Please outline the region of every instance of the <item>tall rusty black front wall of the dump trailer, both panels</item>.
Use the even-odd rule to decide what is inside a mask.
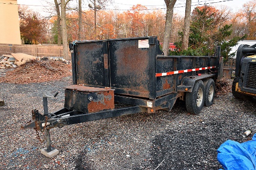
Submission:
[[[73,83],[155,99],[157,44],[156,37],[77,42]]]

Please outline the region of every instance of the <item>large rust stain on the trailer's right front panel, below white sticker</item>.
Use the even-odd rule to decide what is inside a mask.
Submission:
[[[137,45],[121,45],[115,51],[116,76],[126,77],[127,83],[120,82],[118,88],[148,91],[145,82],[149,76],[149,51],[138,49]]]

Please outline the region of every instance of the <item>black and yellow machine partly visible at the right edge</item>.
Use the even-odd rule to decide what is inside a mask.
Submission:
[[[237,49],[232,93],[238,99],[256,97],[256,44]]]

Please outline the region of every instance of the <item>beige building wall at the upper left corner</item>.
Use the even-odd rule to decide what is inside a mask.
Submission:
[[[21,44],[17,0],[0,0],[0,43]]]

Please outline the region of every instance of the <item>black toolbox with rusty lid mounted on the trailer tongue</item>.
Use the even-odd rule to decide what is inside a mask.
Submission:
[[[65,87],[64,107],[84,113],[114,109],[114,90],[71,85]]]

